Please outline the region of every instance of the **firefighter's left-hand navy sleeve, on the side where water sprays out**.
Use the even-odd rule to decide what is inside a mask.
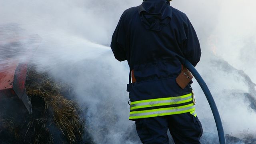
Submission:
[[[126,32],[123,24],[123,15],[122,15],[114,31],[111,45],[110,45],[115,58],[120,62],[127,59],[125,46],[126,46]]]

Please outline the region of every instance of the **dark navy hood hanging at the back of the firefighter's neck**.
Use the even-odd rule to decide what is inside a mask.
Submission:
[[[139,6],[140,20],[148,30],[160,31],[172,18],[172,9],[167,0],[144,0]]]

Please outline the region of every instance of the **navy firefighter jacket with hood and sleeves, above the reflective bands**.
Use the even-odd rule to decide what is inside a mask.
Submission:
[[[186,14],[167,0],[144,0],[124,11],[112,36],[111,48],[119,61],[134,70],[130,100],[181,96],[191,92],[176,84],[184,60],[194,66],[201,56],[196,32]]]

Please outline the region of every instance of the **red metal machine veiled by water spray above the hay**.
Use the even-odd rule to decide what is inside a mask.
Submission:
[[[42,39],[37,34],[27,36],[23,32],[15,24],[0,27],[0,114],[9,112],[3,108],[23,107],[22,102],[32,114],[26,95],[26,72],[28,60]]]

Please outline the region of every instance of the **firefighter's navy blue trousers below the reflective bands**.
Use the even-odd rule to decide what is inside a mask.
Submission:
[[[175,144],[200,144],[203,133],[201,122],[189,112],[141,118],[137,119],[135,124],[143,144],[169,144],[168,128]]]

